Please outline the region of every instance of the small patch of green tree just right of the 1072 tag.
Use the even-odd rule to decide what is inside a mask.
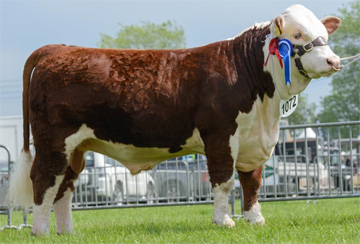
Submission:
[[[299,94],[299,104],[296,110],[288,117],[289,125],[310,124],[315,122],[314,103],[308,103],[307,95]]]

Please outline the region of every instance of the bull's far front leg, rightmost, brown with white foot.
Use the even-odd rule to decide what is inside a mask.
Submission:
[[[257,192],[261,186],[262,166],[250,172],[238,170],[239,180],[244,194],[244,217],[252,224],[263,225],[265,218],[261,214],[261,206],[258,202]]]

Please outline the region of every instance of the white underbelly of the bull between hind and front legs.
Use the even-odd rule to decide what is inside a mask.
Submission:
[[[195,129],[193,135],[186,140],[186,143],[182,145],[183,150],[177,153],[170,153],[169,148],[135,147],[134,145],[100,140],[95,136],[91,128],[83,124],[75,134],[65,139],[65,153],[67,158],[69,159],[76,147],[86,140],[90,141],[87,143],[87,150],[104,154],[119,161],[128,168],[132,174],[137,174],[141,170],[149,170],[160,162],[173,157],[191,153],[204,154],[204,143],[197,129]]]

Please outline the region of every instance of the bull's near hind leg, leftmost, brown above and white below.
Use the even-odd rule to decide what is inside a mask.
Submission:
[[[36,146],[35,146],[36,147]],[[49,234],[50,211],[61,182],[64,179],[65,155],[36,148],[36,156],[30,177],[34,189],[34,235]]]

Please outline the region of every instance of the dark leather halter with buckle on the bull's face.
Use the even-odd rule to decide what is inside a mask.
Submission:
[[[302,66],[300,57],[301,57],[302,55],[304,55],[305,53],[310,52],[311,50],[313,50],[314,47],[317,47],[317,46],[326,46],[326,45],[328,45],[328,44],[326,43],[325,38],[323,38],[323,37],[321,37],[321,36],[319,36],[318,38],[316,38],[316,39],[315,39],[314,41],[312,41],[312,42],[306,43],[305,45],[294,45],[294,44],[293,44],[293,49],[297,49],[297,51],[296,51],[296,52],[294,51],[291,56],[292,56],[292,57],[295,56],[295,59],[294,59],[295,65],[296,65],[296,67],[298,68],[299,73],[300,73],[302,76],[304,76],[304,77],[306,77],[306,78],[308,78],[308,79],[311,79],[311,78],[308,76],[307,72],[305,71],[304,67]]]

